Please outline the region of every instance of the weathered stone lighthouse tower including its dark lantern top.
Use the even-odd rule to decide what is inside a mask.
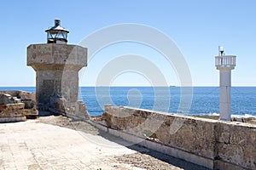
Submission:
[[[67,44],[67,31],[61,20],[46,30],[47,43],[27,47],[27,65],[37,72],[39,115],[54,112],[67,116],[87,114],[78,101],[79,70],[87,65],[87,48]]]

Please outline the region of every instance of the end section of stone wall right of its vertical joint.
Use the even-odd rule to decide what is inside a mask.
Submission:
[[[256,126],[247,123],[218,123],[218,158],[241,167],[256,169]],[[224,163],[219,161],[219,166]],[[224,168],[223,168],[224,169]]]

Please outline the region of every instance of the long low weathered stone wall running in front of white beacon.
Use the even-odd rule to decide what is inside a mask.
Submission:
[[[111,129],[160,144],[152,149],[204,167],[256,169],[255,125],[112,105],[105,106],[102,118]]]

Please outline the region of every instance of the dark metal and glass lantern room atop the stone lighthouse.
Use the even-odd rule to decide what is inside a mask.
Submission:
[[[67,43],[67,31],[61,27],[61,20],[55,20],[55,26],[45,30],[47,32],[47,43]]]

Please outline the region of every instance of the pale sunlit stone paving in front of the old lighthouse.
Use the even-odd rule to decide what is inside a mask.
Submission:
[[[103,145],[90,142],[100,140]],[[113,145],[114,147],[109,147]],[[140,169],[118,163],[113,156],[134,150],[92,134],[37,120],[0,123],[0,169]]]

